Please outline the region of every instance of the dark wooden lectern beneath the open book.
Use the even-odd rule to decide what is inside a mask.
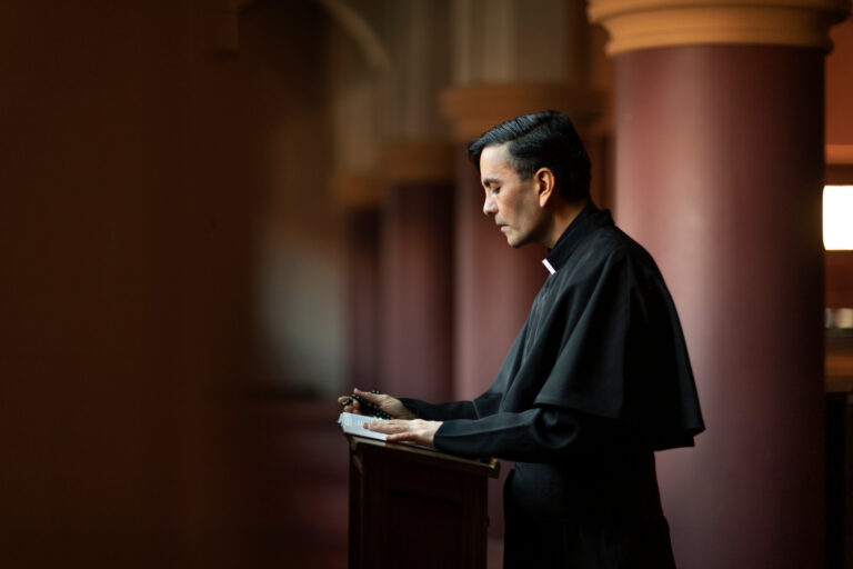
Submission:
[[[350,569],[485,569],[486,482],[496,460],[347,439]]]

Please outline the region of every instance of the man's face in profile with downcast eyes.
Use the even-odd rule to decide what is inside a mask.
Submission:
[[[545,212],[539,203],[535,177],[519,177],[506,147],[486,147],[480,154],[480,181],[485,190],[483,213],[494,217],[506,242],[518,248],[541,240]]]

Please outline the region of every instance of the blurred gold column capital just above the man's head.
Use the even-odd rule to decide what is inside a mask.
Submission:
[[[605,107],[601,93],[562,83],[451,88],[441,93],[439,101],[441,113],[452,122],[453,137],[460,141],[520,114],[545,109],[565,112],[581,128]]]

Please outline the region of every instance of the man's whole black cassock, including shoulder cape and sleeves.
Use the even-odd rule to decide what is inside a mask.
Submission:
[[[704,429],[681,325],[649,253],[588,204],[492,387],[403,403],[438,449],[514,460],[505,567],[674,567],[654,450]]]

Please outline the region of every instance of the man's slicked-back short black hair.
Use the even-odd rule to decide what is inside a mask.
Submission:
[[[468,156],[480,171],[483,149],[508,142],[511,164],[522,180],[530,179],[540,168],[549,168],[563,198],[589,199],[590,157],[569,117],[559,111],[542,111],[501,122],[471,142]]]

